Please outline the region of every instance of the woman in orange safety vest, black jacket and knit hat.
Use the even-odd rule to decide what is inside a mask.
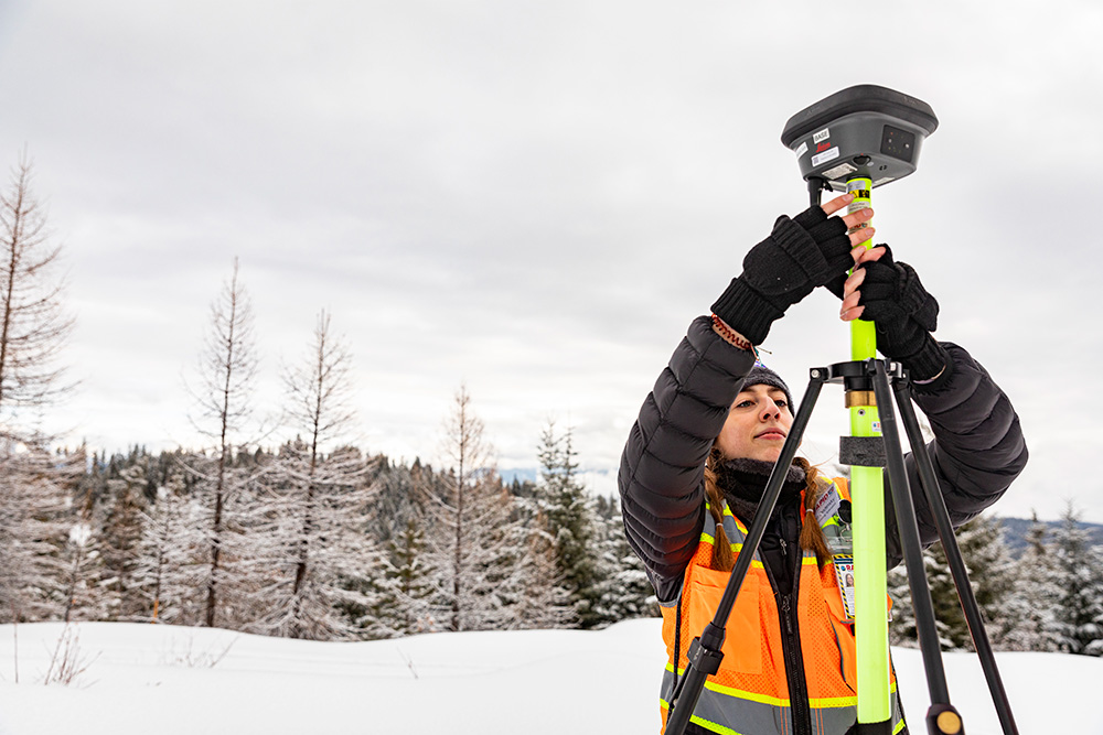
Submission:
[[[878,349],[908,368],[914,401],[930,419],[929,450],[955,526],[995,502],[1026,464],[1007,397],[963,348],[931,336],[938,303],[914,270],[893,262],[887,247],[863,245],[874,234],[860,228],[872,210],[832,216],[850,199],[777,220],[711,317],[690,324],[625,445],[624,526],[655,587],[670,657],[664,728],[675,671],[711,620],[793,422],[788,386],[754,349],[789,306],[826,285],[843,299],[843,320],[876,324]],[[906,458],[920,534],[930,543],[938,531],[913,457]],[[831,563],[832,544],[845,536],[848,519],[838,509],[847,497],[845,480],[793,462],[729,618],[721,668],[687,732],[843,735],[854,724],[854,627],[844,604],[853,591]],[[902,554],[890,498],[885,521],[892,566]],[[892,732],[906,732],[893,700]]]

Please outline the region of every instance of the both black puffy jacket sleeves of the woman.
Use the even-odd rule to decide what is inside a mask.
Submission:
[[[1019,420],[1007,396],[963,348],[943,343],[952,369],[913,398],[934,431],[928,445],[954,526],[999,499],[1027,462]],[[754,356],[725,342],[708,317],[689,325],[640,410],[621,456],[618,484],[629,542],[661,601],[673,599],[705,522],[705,458]],[[906,457],[923,543],[938,529],[923,499],[914,458]],[[900,562],[891,499],[886,502],[889,564]]]

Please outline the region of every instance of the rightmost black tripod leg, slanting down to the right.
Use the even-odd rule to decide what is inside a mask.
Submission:
[[[927,496],[931,516],[939,528],[939,538],[942,540],[942,548],[946,552],[946,561],[954,575],[954,586],[957,587],[957,597],[961,601],[962,609],[965,613],[965,620],[968,623],[968,631],[973,637],[973,646],[981,659],[981,668],[984,670],[984,678],[988,682],[988,691],[992,692],[992,701],[996,706],[996,714],[999,716],[999,724],[1004,729],[1004,735],[1018,735],[1015,718],[1011,716],[1011,705],[1004,690],[1004,682],[999,678],[999,670],[996,668],[996,657],[992,651],[992,644],[988,641],[988,634],[984,628],[984,620],[981,618],[981,608],[976,604],[976,596],[968,582],[968,572],[965,570],[965,560],[962,558],[961,549],[957,547],[957,537],[954,536],[953,523],[950,521],[950,512],[946,510],[945,500],[942,497],[942,489],[934,474],[934,464],[931,455],[927,451],[922,432],[919,430],[919,419],[915,418],[915,409],[911,404],[911,397],[908,391],[907,381],[900,380],[896,383],[896,399],[900,407],[900,419],[908,432],[908,441],[911,444],[912,455],[915,458],[919,469],[920,485]]]

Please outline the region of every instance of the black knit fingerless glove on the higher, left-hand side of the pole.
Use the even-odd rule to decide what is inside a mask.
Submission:
[[[751,344],[762,344],[786,309],[854,264],[850,249],[846,225],[822,208],[793,219],[782,215],[770,237],[743,258],[743,272],[713,304],[713,313]]]

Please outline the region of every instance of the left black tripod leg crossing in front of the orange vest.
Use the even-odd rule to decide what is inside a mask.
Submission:
[[[765,527],[773,514],[773,508],[778,505],[778,498],[781,497],[781,486],[785,482],[785,475],[789,473],[789,466],[793,463],[793,457],[796,456],[796,448],[801,445],[801,437],[808,426],[812,409],[816,406],[820,389],[826,382],[828,371],[825,368],[813,368],[811,375],[808,388],[804,391],[804,398],[801,400],[801,408],[796,412],[793,425],[781,447],[781,456],[774,463],[770,479],[767,480],[765,489],[762,491],[762,500],[759,502],[759,508],[754,511],[754,519],[747,530],[743,548],[736,558],[736,565],[731,570],[731,576],[728,577],[728,584],[725,586],[724,595],[716,607],[716,614],[713,620],[705,626],[700,637],[694,639],[689,646],[686,671],[675,684],[675,695],[671,698],[665,735],[682,735],[685,732],[686,725],[689,724],[689,717],[697,707],[700,692],[705,688],[705,680],[708,679],[709,674],[719,670],[720,660],[724,658],[724,652],[720,649],[724,646],[724,629],[728,625],[728,616],[736,604],[739,587],[743,584],[743,577],[747,576],[747,570],[751,566],[762,536],[765,534]],[[675,670],[677,663],[677,661],[674,662]]]

